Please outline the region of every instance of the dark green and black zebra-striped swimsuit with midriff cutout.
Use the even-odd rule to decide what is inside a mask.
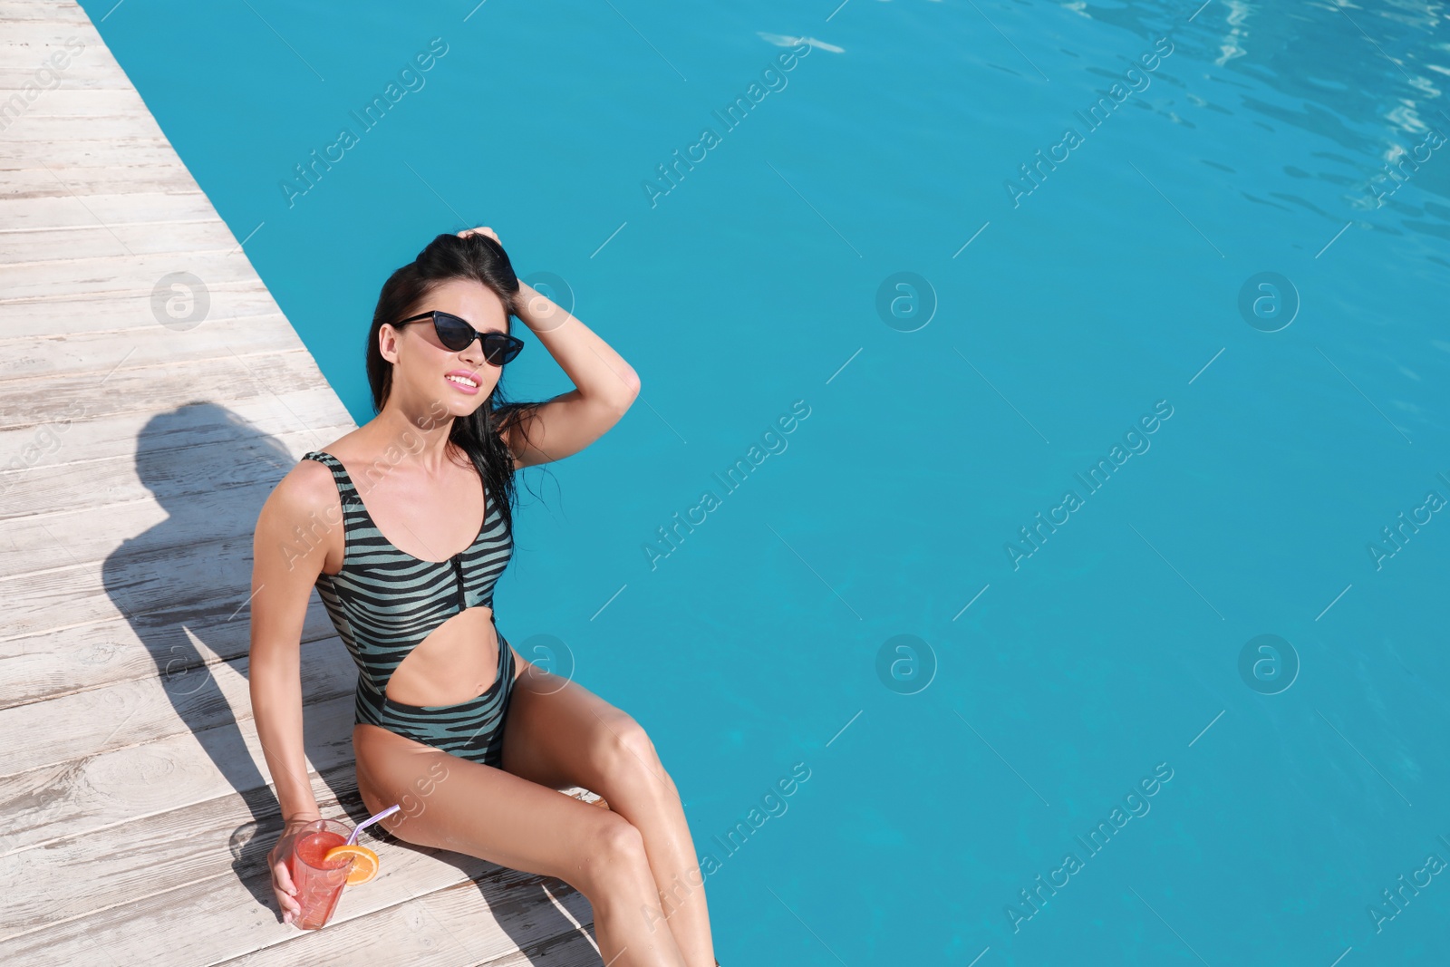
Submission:
[[[435,628],[464,609],[493,606],[493,586],[513,554],[513,535],[487,486],[483,526],[468,549],[447,561],[423,561],[383,536],[336,457],[318,449],[303,454],[303,460],[332,470],[342,500],[342,570],[319,573],[316,587],[358,667],[354,722],[499,767],[515,673],[513,648],[503,635],[497,635],[497,676],[483,694],[425,706],[387,697],[387,681],[397,665]]]

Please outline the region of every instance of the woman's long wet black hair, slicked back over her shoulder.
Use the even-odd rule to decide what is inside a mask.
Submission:
[[[512,319],[518,315],[519,280],[513,274],[503,246],[487,235],[476,233],[458,238],[444,232],[431,241],[407,265],[396,270],[383,283],[373,310],[373,325],[367,333],[367,381],[373,391],[373,412],[383,412],[393,384],[393,362],[383,358],[378,348],[378,331],[383,323],[397,323],[402,319],[428,312],[423,304],[442,284],[454,278],[481,283],[493,291],[505,309],[505,331],[513,329]],[[418,325],[418,323],[415,323]],[[489,393],[483,406],[468,416],[454,418],[448,442],[461,449],[473,461],[474,468],[489,489],[489,497],[499,506],[505,526],[513,532],[513,506],[518,500],[513,480],[513,457],[503,442],[500,429],[528,410],[536,410],[541,403],[512,403],[503,393],[503,374]]]

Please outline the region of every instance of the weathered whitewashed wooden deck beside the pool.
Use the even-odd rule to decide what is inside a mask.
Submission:
[[[0,0],[0,964],[599,964],[568,886],[386,834],[332,924],[281,924],[251,532],[354,423],[75,3]],[[318,805],[357,822],[316,594],[302,654]]]

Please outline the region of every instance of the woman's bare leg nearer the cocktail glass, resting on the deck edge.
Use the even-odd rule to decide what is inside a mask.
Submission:
[[[381,823],[397,838],[564,880],[589,899],[609,967],[687,967],[670,931],[650,928],[663,912],[624,816],[374,725],[355,725],[352,747],[368,812],[403,806]]]

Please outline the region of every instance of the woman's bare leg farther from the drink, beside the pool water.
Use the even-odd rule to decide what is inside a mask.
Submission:
[[[522,658],[518,664],[525,667],[503,723],[503,768],[541,786],[583,786],[603,796],[644,838],[658,890],[655,903],[641,906],[648,929],[671,932],[687,967],[715,967],[703,873],[654,742],[577,681],[545,676]]]

